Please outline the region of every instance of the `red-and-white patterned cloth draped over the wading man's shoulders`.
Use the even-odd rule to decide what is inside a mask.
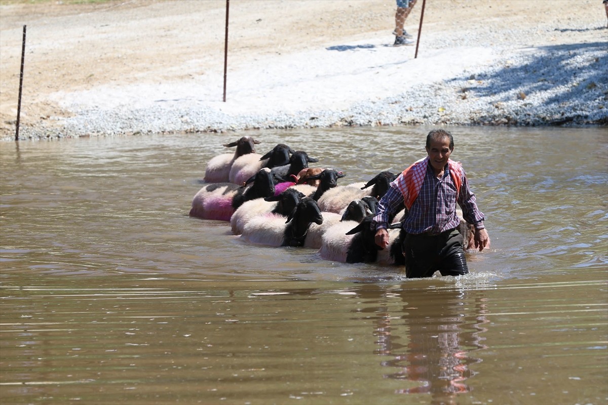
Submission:
[[[407,209],[411,209],[413,203],[418,198],[422,183],[424,183],[424,175],[429,164],[429,157],[421,158],[409,166],[402,172],[402,175],[392,183],[404,198],[404,203]],[[452,159],[447,160],[447,166],[452,177],[452,181],[456,186],[456,195],[460,194],[460,186],[462,185],[462,165],[460,162],[454,162]]]

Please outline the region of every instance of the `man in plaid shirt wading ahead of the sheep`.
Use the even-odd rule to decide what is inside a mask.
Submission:
[[[407,277],[430,277],[435,271],[442,276],[469,273],[463,237],[456,229],[463,218],[475,226],[475,248],[489,245],[483,225],[483,213],[477,208],[475,194],[469,189],[462,165],[450,159],[454,151],[452,134],[434,129],[426,137],[427,157],[405,169],[390,183],[389,191],[378,203],[378,214],[371,223],[376,230],[376,245],[389,245],[387,220],[405,204],[408,213],[402,222],[407,232],[403,243]]]

